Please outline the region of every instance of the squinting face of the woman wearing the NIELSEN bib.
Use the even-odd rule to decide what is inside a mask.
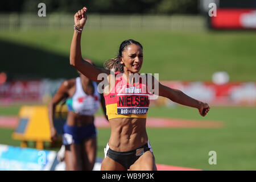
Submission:
[[[125,48],[120,57],[125,72],[138,73],[143,63],[143,51],[140,46],[131,44]]]

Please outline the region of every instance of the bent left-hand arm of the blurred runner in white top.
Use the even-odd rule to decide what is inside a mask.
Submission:
[[[53,117],[55,113],[55,107],[61,100],[68,97],[68,86],[69,82],[66,80],[61,85],[60,88],[57,90],[55,96],[53,96],[52,101],[49,103],[48,106],[48,118],[49,118],[49,125],[51,129],[51,140],[57,140],[57,131],[53,125]]]

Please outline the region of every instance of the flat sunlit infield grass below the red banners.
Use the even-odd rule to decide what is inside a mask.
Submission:
[[[13,111],[11,107],[9,109],[10,115],[17,113],[16,107]],[[255,107],[212,107],[206,117],[201,117],[196,109],[190,107],[151,107],[148,117],[224,123],[220,129],[148,128],[147,134],[156,163],[206,170],[256,170]],[[11,139],[12,131],[0,129],[0,143],[19,146],[19,141]],[[110,129],[98,129],[97,156],[100,158],[104,157],[103,148],[109,137]],[[217,152],[216,165],[208,163],[209,151]]]

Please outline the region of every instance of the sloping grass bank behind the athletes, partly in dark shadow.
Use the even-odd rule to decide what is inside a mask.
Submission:
[[[19,31],[0,32],[0,41],[19,45],[26,56],[13,55],[2,45],[3,60],[10,60],[23,67],[24,76],[31,68],[42,66],[32,76],[64,77],[75,72],[69,65],[69,49],[73,31]],[[256,80],[256,36],[254,32],[174,32],[174,31],[127,31],[127,30],[86,30],[82,35],[82,56],[93,59],[97,65],[114,57],[119,44],[125,39],[142,43],[144,63],[141,72],[160,73],[160,80],[212,80],[216,71],[226,71],[233,81]],[[1,43],[0,43],[1,46]],[[30,50],[30,48],[32,48]],[[40,60],[38,51],[42,53]],[[46,55],[49,56],[46,56]],[[22,60],[19,59],[22,57]],[[28,66],[25,66],[28,65]],[[62,67],[65,65],[65,67]],[[28,68],[29,69],[28,69]],[[58,69],[59,68],[59,69]],[[14,72],[14,67],[4,62],[2,69]],[[62,70],[65,69],[65,72]],[[73,75],[69,75],[69,71]],[[58,72],[59,71],[59,74]],[[42,73],[41,73],[42,72]],[[40,73],[40,74],[39,74]],[[54,73],[54,74],[51,74]],[[65,74],[64,74],[65,73]],[[33,75],[34,74],[34,75]],[[19,75],[19,76],[20,76]],[[18,75],[17,75],[18,76]],[[30,75],[31,76],[31,75]]]

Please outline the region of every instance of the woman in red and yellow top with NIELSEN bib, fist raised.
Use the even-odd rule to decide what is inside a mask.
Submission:
[[[142,45],[135,40],[123,41],[118,56],[106,61],[105,69],[96,68],[84,61],[81,56],[81,33],[87,19],[86,11],[84,7],[74,16],[75,31],[71,43],[70,64],[89,79],[104,83],[101,86],[104,86],[111,135],[104,150],[105,158],[101,170],[156,170],[146,132],[150,95],[158,94],[178,104],[195,107],[202,116],[208,113],[210,107],[180,90],[160,84],[151,75],[146,74],[146,81],[134,78],[143,63]],[[150,82],[151,88],[148,86]],[[151,92],[155,88],[158,88],[158,92]]]

